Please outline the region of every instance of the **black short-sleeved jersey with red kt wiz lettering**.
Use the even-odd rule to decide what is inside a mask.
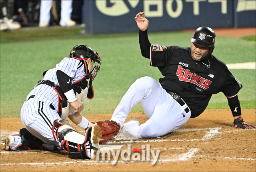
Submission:
[[[149,52],[150,66],[158,67],[164,76],[159,79],[160,84],[186,102],[191,118],[204,112],[212,94],[223,92],[232,98],[243,87],[227,66],[213,55],[197,62],[192,58],[191,48],[155,44],[150,46]],[[210,68],[205,65],[209,64],[208,60]]]

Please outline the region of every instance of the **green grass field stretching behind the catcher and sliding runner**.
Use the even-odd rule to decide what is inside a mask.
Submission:
[[[162,77],[158,68],[141,56],[138,33],[79,35],[81,28],[1,32],[0,110],[1,118],[20,116],[20,108],[42,72],[69,56],[74,45],[87,44],[102,58],[93,82],[94,98],[86,100],[82,114],[112,114],[130,85],[142,76]],[[47,32],[46,32],[47,31]],[[149,33],[152,44],[190,46],[191,34]],[[213,54],[225,62],[255,62],[255,41],[216,38]],[[255,70],[230,70],[244,88],[238,96],[242,108],[255,108]],[[222,94],[212,96],[208,108],[229,108]],[[137,104],[132,112],[141,112]]]

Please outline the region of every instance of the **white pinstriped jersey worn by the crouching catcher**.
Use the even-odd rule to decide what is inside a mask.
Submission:
[[[83,62],[74,58],[65,57],[59,64],[56,64],[55,68],[48,70],[42,80],[49,80],[59,86],[59,82],[56,74],[58,70],[61,70],[62,72],[67,74],[69,77],[73,78],[70,81],[72,82],[72,84],[82,80],[85,75],[85,68],[84,68]],[[36,86],[36,88],[34,88],[28,94],[27,99],[32,95],[40,95],[47,98],[52,102],[52,105],[56,108],[56,110],[58,110],[58,94],[52,88],[52,86],[48,86],[46,84],[40,84]],[[86,99],[86,96],[87,94],[85,95],[85,99]],[[74,114],[74,112],[71,112],[71,114]]]

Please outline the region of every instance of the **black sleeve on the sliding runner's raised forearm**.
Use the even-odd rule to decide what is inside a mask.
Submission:
[[[139,33],[140,51],[143,57],[150,58],[150,42],[148,40],[148,29],[140,30]]]

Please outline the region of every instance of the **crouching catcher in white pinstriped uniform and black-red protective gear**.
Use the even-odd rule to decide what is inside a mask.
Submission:
[[[95,64],[98,63],[98,65]],[[86,98],[94,97],[92,81],[100,70],[101,59],[96,50],[77,45],[28,94],[22,108],[25,128],[19,135],[6,139],[6,150],[66,150],[73,159],[93,159],[100,150],[101,128],[84,118]],[[86,130],[85,136],[74,130],[74,124]]]

